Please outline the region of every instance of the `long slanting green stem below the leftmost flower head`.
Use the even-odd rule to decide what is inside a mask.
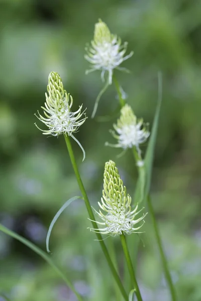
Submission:
[[[81,180],[81,177],[80,177],[80,174],[79,174],[79,171],[78,171],[78,168],[77,168],[77,164],[76,164],[76,161],[75,161],[75,157],[74,157],[74,154],[73,154],[73,150],[72,150],[72,146],[71,146],[71,142],[70,142],[70,137],[67,135],[64,135],[65,137],[65,141],[66,141],[66,145],[67,145],[67,148],[68,148],[68,153],[69,153],[69,157],[70,157],[70,160],[71,160],[71,163],[72,163],[72,167],[73,167],[73,170],[74,170],[74,173],[75,173],[75,176],[77,178],[77,183],[79,185],[79,189],[82,193],[82,196],[83,196],[83,199],[84,199],[84,202],[85,202],[85,205],[86,205],[86,209],[88,211],[88,215],[90,217],[90,219],[92,220],[91,223],[92,223],[92,226],[93,228],[97,228],[97,224],[95,221],[95,217],[94,217],[94,214],[93,214],[93,211],[91,209],[91,206],[90,206],[90,203],[89,203],[89,200],[88,200],[88,197],[87,197],[87,194],[86,194],[86,191],[85,191],[85,188],[83,186],[83,183],[82,183],[82,180]],[[102,250],[105,254],[105,257],[107,259],[107,262],[108,262],[108,265],[112,271],[112,274],[119,286],[119,289],[124,297],[124,299],[127,301],[128,300],[128,296],[127,296],[127,293],[126,293],[126,290],[124,289],[124,286],[121,282],[121,279],[115,269],[115,266],[111,260],[111,257],[109,255],[109,252],[108,252],[108,249],[106,248],[106,245],[105,245],[105,242],[103,241],[103,238],[102,238],[102,235],[100,233],[96,233],[96,236],[97,236],[97,240],[99,241],[100,243],[100,246],[102,247]]]

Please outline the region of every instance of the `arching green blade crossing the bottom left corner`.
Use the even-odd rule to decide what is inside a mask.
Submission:
[[[64,282],[70,287],[70,289],[75,293],[77,299],[79,301],[83,301],[82,297],[80,294],[75,290],[74,286],[72,283],[66,278],[66,276],[63,274],[63,272],[54,264],[54,262],[50,259],[50,257],[42,251],[39,247],[37,247],[35,244],[27,240],[26,238],[18,235],[17,233],[13,232],[12,230],[9,230],[8,228],[4,227],[3,225],[0,224],[0,231],[10,235],[11,237],[19,240],[26,246],[28,246],[30,249],[32,249],[35,253],[40,255],[49,265],[55,270],[55,272],[64,280]]]

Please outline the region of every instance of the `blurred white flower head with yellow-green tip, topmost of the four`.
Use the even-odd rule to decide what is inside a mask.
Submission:
[[[94,70],[101,70],[101,77],[104,80],[106,71],[109,74],[109,84],[112,84],[113,69],[125,70],[119,65],[133,55],[124,56],[127,51],[127,42],[121,45],[121,39],[117,35],[111,34],[108,26],[102,20],[95,24],[94,37],[91,46],[86,48],[85,59],[91,64],[91,69],[86,74]]]

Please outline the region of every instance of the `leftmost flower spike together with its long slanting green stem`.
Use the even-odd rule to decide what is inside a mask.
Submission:
[[[51,72],[48,79],[48,86],[47,90],[49,93],[49,96],[46,93],[46,102],[45,107],[42,107],[44,110],[43,117],[41,114],[37,116],[40,121],[42,121],[47,127],[48,130],[42,130],[45,134],[50,134],[54,136],[58,136],[60,134],[64,134],[66,146],[68,149],[68,154],[71,160],[71,164],[77,179],[77,183],[79,186],[79,189],[82,193],[86,209],[89,215],[90,220],[92,221],[93,228],[96,227],[95,217],[93,215],[93,211],[91,209],[85,188],[83,186],[78,167],[76,164],[76,160],[73,154],[70,137],[72,137],[76,142],[79,143],[77,139],[72,135],[73,132],[76,132],[78,127],[83,124],[83,122],[86,119],[86,116],[79,120],[79,118],[82,116],[84,112],[81,112],[82,106],[79,107],[79,109],[76,112],[71,112],[71,106],[72,106],[72,97],[67,94],[66,90],[63,88],[63,83],[61,81],[61,77],[56,72]],[[70,99],[70,104],[69,104]],[[38,127],[38,126],[37,126]],[[39,128],[39,127],[38,127]],[[40,128],[39,128],[40,129]],[[82,147],[82,146],[80,146]],[[85,153],[84,153],[85,155]],[[100,243],[100,246],[102,247],[102,250],[105,254],[105,257],[107,259],[108,265],[112,271],[112,274],[119,286],[119,289],[124,297],[124,299],[127,301],[128,296],[127,293],[122,285],[121,279],[116,271],[116,268],[111,260],[110,254],[108,252],[108,249],[103,241],[102,235],[100,233],[96,233],[97,240]]]

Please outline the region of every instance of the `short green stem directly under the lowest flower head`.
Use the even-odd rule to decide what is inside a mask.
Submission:
[[[125,258],[126,258],[126,262],[127,262],[127,265],[128,265],[129,273],[130,273],[130,276],[131,276],[131,280],[132,280],[133,285],[134,285],[135,290],[136,290],[137,299],[138,299],[138,301],[143,301],[141,293],[140,293],[140,289],[139,289],[139,286],[138,286],[138,282],[137,282],[136,277],[135,277],[134,268],[133,268],[133,264],[132,264],[132,261],[131,261],[131,256],[129,254],[128,246],[127,246],[127,243],[126,243],[126,237],[125,237],[124,234],[121,234],[120,238],[121,238],[122,247],[123,247],[123,250],[124,250],[124,255],[125,255]]]

